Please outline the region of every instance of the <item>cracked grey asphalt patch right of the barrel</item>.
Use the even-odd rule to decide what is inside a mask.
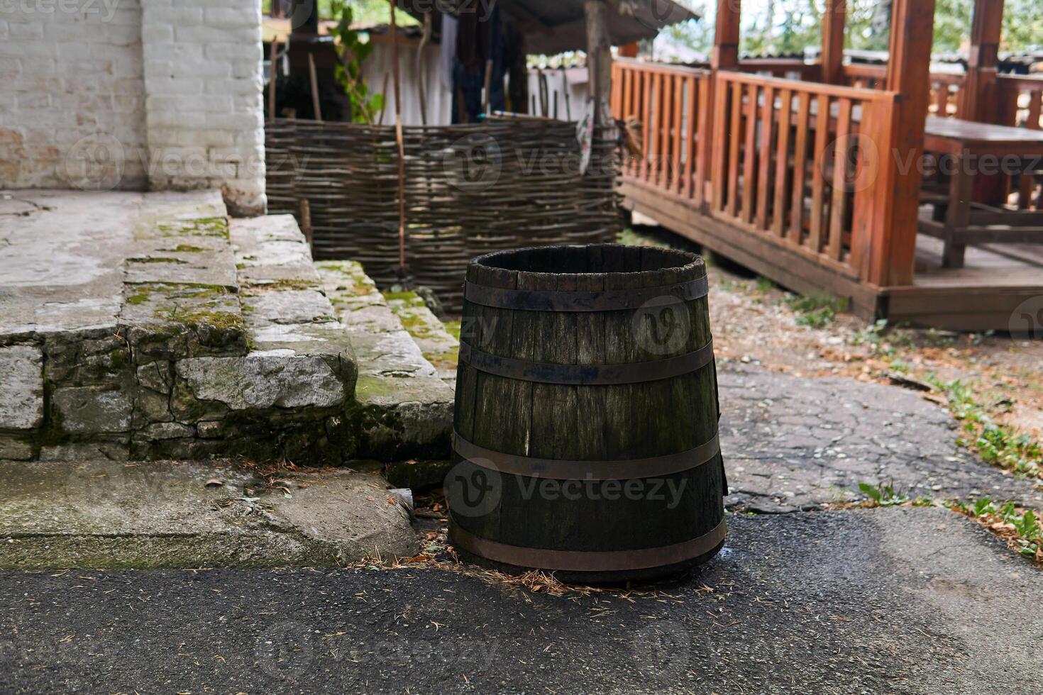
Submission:
[[[969,496],[1043,508],[1030,480],[956,445],[956,421],[914,391],[719,365],[721,449],[734,511],[818,510],[860,499],[859,482],[911,497]]]

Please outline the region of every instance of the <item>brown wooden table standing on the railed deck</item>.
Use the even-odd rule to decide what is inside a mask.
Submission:
[[[945,242],[943,267],[962,268],[968,244],[1043,244],[1043,210],[1011,209],[1002,195],[974,200],[978,175],[990,175],[978,171],[987,157],[994,171],[1002,162],[1003,173],[997,175],[1020,175],[1030,189],[1033,175],[1043,173],[1043,131],[930,116],[924,150],[952,165],[943,198],[925,197],[936,205],[933,219],[920,220],[920,231]]]

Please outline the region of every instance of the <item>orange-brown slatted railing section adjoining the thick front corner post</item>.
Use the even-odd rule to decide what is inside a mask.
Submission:
[[[871,237],[887,233],[872,222],[874,182],[896,166],[895,95],[724,71],[715,80],[709,213],[865,278]]]

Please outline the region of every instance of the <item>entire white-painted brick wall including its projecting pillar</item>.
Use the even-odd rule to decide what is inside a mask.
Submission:
[[[0,188],[218,188],[264,212],[258,0],[0,0]]]

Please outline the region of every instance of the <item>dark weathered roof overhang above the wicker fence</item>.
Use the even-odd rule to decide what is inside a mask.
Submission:
[[[455,7],[456,14],[478,13],[487,15],[493,0],[404,0],[409,14],[421,22],[432,10]],[[554,54],[586,49],[586,25],[583,19],[583,0],[495,0],[501,11],[509,15],[525,34],[526,52]],[[623,46],[642,39],[652,39],[664,26],[699,19],[690,9],[674,0],[605,0],[608,35],[613,46]],[[440,29],[440,17],[435,30]]]

